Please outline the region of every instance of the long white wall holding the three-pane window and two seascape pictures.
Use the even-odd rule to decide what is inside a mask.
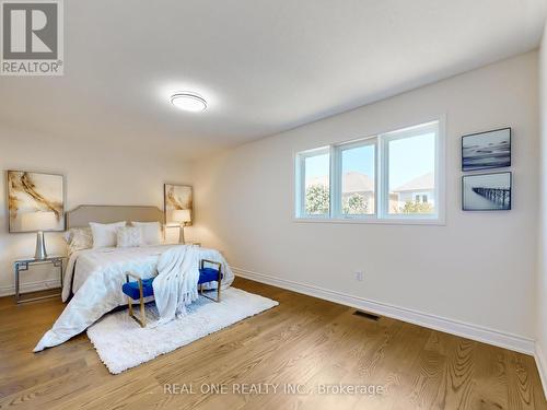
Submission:
[[[363,72],[363,75],[366,75]],[[238,147],[196,168],[199,237],[236,268],[535,336],[537,52]],[[298,223],[293,152],[446,115],[446,225]],[[513,210],[461,210],[461,136],[513,128]],[[365,281],[353,279],[365,271]],[[533,342],[532,342],[533,345]]]

